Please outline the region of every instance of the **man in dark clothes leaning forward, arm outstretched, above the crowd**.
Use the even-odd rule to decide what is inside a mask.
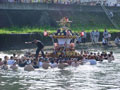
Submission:
[[[40,40],[34,40],[32,42],[25,42],[26,44],[35,44],[37,46],[37,50],[36,50],[36,54],[35,54],[35,58],[38,59],[39,56],[39,52],[41,51],[41,54],[43,57],[45,57],[44,52],[43,52],[43,48],[44,48],[44,44],[40,41]]]

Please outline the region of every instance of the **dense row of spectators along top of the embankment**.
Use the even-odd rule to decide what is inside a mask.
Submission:
[[[10,2],[10,3],[51,3],[51,4],[81,4],[81,5],[91,5],[91,6],[116,6],[120,7],[120,3],[112,2],[102,2],[101,1],[84,1],[84,0],[0,0],[0,2]]]

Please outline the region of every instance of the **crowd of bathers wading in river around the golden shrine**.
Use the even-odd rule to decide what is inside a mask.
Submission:
[[[79,57],[77,58],[49,58],[49,57],[39,57],[36,59],[30,52],[24,54],[24,56],[13,54],[12,56],[4,56],[0,58],[0,68],[3,70],[12,69],[14,71],[18,70],[18,67],[24,68],[25,71],[33,71],[38,68],[48,69],[48,68],[59,68],[64,69],[68,66],[77,67],[79,65],[90,64],[96,65],[97,62],[102,62],[107,60],[112,62],[114,60],[113,52],[89,52],[81,51]]]

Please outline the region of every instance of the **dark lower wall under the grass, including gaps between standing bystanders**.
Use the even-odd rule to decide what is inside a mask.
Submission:
[[[111,33],[111,41],[117,36],[120,36],[120,32]],[[102,41],[103,33],[100,33],[100,40]],[[31,34],[0,34],[0,50],[20,50],[25,48],[34,48],[35,46],[30,44],[26,45],[25,42],[33,41],[34,39],[41,40],[45,46],[53,45],[50,37],[44,37],[43,33],[31,33]],[[87,33],[86,42],[90,42],[90,33]],[[88,46],[88,45],[87,45]]]

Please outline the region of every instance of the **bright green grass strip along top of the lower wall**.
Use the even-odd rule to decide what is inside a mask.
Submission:
[[[52,28],[52,27],[10,27],[10,28],[0,28],[0,34],[26,34],[26,33],[43,33],[44,30],[49,31],[50,33],[56,32],[58,28]],[[82,30],[85,30],[86,32],[91,32],[92,30],[98,30],[99,32],[103,32],[104,28],[71,28],[73,32],[81,32]],[[110,33],[117,33],[120,32],[120,30],[114,29],[114,28],[108,28],[107,29]]]

